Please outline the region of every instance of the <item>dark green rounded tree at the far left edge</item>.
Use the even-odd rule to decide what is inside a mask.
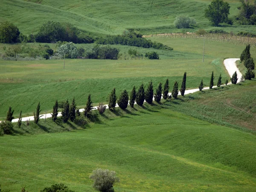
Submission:
[[[0,43],[18,43],[19,36],[20,31],[13,23],[9,21],[3,21],[0,23]]]

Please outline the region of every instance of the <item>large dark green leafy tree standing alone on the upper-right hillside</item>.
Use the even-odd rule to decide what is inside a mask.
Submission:
[[[211,4],[205,9],[205,17],[215,26],[219,23],[226,22],[230,14],[230,5],[223,0],[212,0]]]

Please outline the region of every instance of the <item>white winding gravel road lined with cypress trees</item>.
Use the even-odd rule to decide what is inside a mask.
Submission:
[[[228,59],[225,59],[224,60],[224,65],[225,65],[225,67],[227,69],[227,72],[229,73],[230,77],[232,77],[233,73],[235,73],[235,71],[236,71],[237,78],[238,78],[237,82],[240,82],[242,74],[241,74],[241,72],[239,71],[239,69],[236,66],[236,61],[238,61],[238,60],[240,60],[240,59],[239,58],[228,58]],[[231,84],[231,83],[228,83],[228,84]],[[213,86],[213,88],[215,88],[215,87],[217,87],[217,86]],[[204,90],[206,90],[206,89],[209,89],[209,87],[204,87]],[[199,91],[199,89],[185,90],[185,95],[190,94],[190,93],[195,93],[197,91]],[[171,93],[169,93],[169,94],[171,94]],[[179,92],[179,95],[180,95],[180,92]],[[108,108],[108,105],[106,105],[106,106]],[[82,112],[82,111],[84,111],[84,109],[79,109],[79,111]],[[58,116],[61,116],[61,112],[58,112]],[[51,117],[52,117],[51,113],[47,113],[47,114],[42,115],[40,119],[51,118]],[[18,120],[19,119],[13,119],[12,122],[17,122]],[[34,120],[34,116],[27,116],[27,117],[23,117],[22,118],[22,121],[27,121],[27,120],[33,121]]]

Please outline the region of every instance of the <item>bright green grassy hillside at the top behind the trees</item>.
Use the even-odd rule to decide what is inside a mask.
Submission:
[[[239,0],[230,0],[230,17],[238,13]],[[211,29],[204,17],[210,0],[1,0],[0,20],[11,20],[24,34],[35,33],[47,20],[70,22],[80,29],[101,34],[121,34],[139,29],[145,34],[177,32],[177,15],[195,17],[199,28]],[[226,31],[255,32],[253,26],[222,26]],[[193,29],[189,29],[193,31]]]

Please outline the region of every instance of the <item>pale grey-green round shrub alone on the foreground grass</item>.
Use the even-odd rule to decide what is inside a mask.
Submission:
[[[99,192],[113,192],[114,183],[119,182],[119,178],[116,177],[116,172],[109,171],[108,169],[93,170],[90,179],[94,181],[93,188]]]

